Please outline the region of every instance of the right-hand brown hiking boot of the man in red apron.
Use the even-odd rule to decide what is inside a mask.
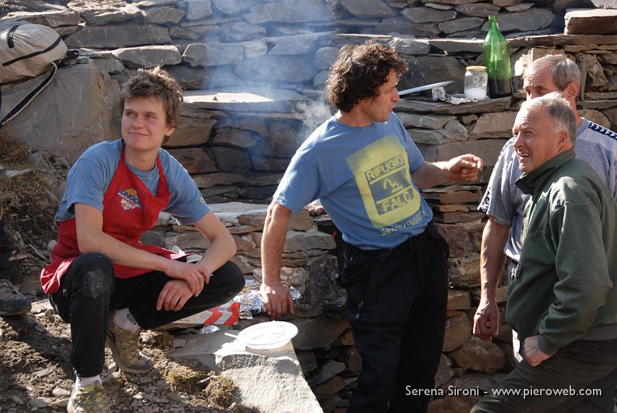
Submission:
[[[152,367],[154,367],[152,361],[137,349],[141,329],[134,333],[121,329],[114,322],[114,315],[115,312],[110,314],[106,343],[111,349],[114,361],[120,370],[138,374],[152,370]]]

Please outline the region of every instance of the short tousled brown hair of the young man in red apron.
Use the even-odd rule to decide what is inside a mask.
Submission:
[[[129,80],[124,82],[120,91],[120,110],[124,103],[134,97],[157,97],[165,107],[165,121],[168,126],[178,126],[182,113],[182,88],[167,71],[160,67],[138,69]],[[169,137],[165,138],[165,143]]]

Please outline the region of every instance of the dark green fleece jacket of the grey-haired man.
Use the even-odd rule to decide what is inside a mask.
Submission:
[[[506,311],[520,341],[540,334],[552,355],[596,326],[617,338],[617,202],[606,185],[573,150],[516,185],[531,194]]]

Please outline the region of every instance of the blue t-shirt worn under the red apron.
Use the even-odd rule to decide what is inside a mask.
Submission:
[[[75,217],[75,202],[103,211],[103,196],[116,173],[121,152],[122,139],[100,142],[84,151],[66,176],[66,190],[56,212],[56,222]],[[171,193],[169,203],[163,211],[176,217],[180,224],[197,222],[210,211],[210,207],[202,198],[193,178],[169,152],[160,149],[158,158],[167,178],[167,189]],[[141,179],[150,192],[156,193],[159,180],[156,166],[152,171],[141,171],[128,163],[125,165]]]

